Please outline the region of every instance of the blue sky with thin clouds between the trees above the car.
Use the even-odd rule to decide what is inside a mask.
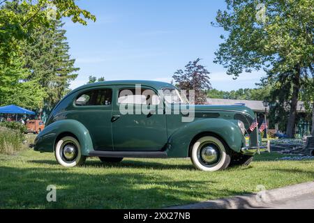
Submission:
[[[96,15],[97,22],[82,26],[64,20],[70,54],[81,68],[72,89],[89,75],[170,82],[177,69],[197,57],[219,90],[254,88],[262,77],[253,72],[234,81],[213,63],[223,29],[210,22],[225,8],[223,0],[81,0],[78,5]]]

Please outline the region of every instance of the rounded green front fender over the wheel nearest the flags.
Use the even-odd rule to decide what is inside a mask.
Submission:
[[[238,126],[222,118],[204,118],[188,123],[174,132],[168,144],[168,157],[188,157],[191,141],[204,132],[211,132],[222,138],[233,151],[240,152],[245,144],[244,135]]]

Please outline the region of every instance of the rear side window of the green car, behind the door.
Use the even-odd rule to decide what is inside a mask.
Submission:
[[[112,90],[99,89],[84,92],[75,100],[76,106],[104,106],[112,104]]]

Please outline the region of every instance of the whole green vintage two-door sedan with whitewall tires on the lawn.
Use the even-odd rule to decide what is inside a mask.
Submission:
[[[246,165],[262,146],[254,112],[245,106],[190,105],[172,85],[98,82],[66,95],[53,109],[34,150],[55,154],[64,167],[87,157],[190,157],[203,171]]]

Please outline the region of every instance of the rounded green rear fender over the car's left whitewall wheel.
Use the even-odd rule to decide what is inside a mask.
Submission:
[[[93,150],[93,143],[89,135],[89,130],[79,121],[66,119],[56,121],[48,125],[35,139],[35,151],[54,152],[54,145],[61,134],[74,134],[81,145],[82,155],[89,155]]]

